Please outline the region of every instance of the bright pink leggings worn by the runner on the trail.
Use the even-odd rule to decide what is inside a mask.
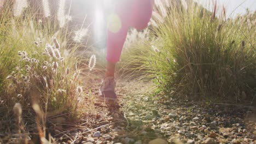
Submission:
[[[121,21],[118,32],[108,30],[107,56],[108,62],[119,62],[129,27],[146,28],[154,6],[154,0],[117,0],[114,13]]]

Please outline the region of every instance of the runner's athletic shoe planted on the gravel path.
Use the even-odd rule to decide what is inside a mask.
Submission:
[[[117,101],[117,94],[115,93],[115,79],[114,76],[105,77],[100,87],[99,99],[102,101]]]

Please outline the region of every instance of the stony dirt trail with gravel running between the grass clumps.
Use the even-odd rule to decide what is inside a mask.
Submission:
[[[100,80],[93,81],[97,85],[91,86],[91,92],[97,95]],[[256,142],[255,108],[164,101],[150,96],[151,86],[150,82],[118,80],[118,103],[94,99],[94,111],[77,122],[65,116],[52,118],[48,131],[63,144]]]

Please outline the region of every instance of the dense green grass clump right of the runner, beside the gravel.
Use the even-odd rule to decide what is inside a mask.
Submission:
[[[217,17],[217,5],[210,13],[192,1],[172,3],[165,10],[156,7],[153,21],[157,25],[150,37],[155,40],[138,46],[135,51],[141,55],[130,59],[141,65],[143,78],[154,79],[157,92],[174,98],[252,101],[255,16],[234,20],[226,18],[224,8]]]

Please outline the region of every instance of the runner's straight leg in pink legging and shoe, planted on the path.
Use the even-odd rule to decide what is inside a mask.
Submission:
[[[117,94],[114,91],[115,64],[120,61],[121,51],[129,29],[132,1],[133,0],[117,1],[115,13],[112,14],[108,20],[107,68],[105,78],[100,88],[99,98],[101,100],[117,100]]]

